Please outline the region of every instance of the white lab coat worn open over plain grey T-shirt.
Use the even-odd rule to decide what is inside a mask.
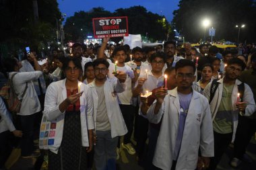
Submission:
[[[96,118],[98,108],[98,94],[95,89],[95,80],[88,85],[92,89],[92,97],[94,99],[94,126],[97,130]],[[125,125],[125,120],[123,120],[123,115],[119,108],[117,95],[113,95],[113,92],[122,93],[123,91],[125,91],[125,83],[120,83],[119,80],[115,77],[113,79],[106,79],[104,83],[104,95],[107,112],[106,114],[108,115],[112,138],[115,138],[116,136],[123,136],[128,132]]]

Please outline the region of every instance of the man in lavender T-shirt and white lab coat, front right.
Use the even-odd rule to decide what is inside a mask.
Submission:
[[[207,99],[193,90],[195,64],[179,60],[175,66],[177,87],[156,90],[148,120],[162,120],[153,164],[160,169],[202,169],[214,156],[214,134]],[[198,157],[201,149],[201,157]]]

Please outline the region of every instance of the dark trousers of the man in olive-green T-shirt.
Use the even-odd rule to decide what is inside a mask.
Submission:
[[[210,170],[216,169],[220,159],[222,159],[222,155],[228,148],[228,144],[230,144],[232,140],[232,133],[228,134],[219,134],[214,132],[214,157],[211,158],[210,161]]]

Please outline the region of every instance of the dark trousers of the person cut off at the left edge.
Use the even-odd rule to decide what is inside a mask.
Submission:
[[[11,132],[5,131],[0,133],[0,169],[5,165],[10,153],[11,153]]]

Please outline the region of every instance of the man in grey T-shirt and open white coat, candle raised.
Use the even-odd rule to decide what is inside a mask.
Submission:
[[[109,63],[104,58],[94,60],[93,66],[95,79],[89,87],[94,99],[94,126],[97,136],[94,165],[97,170],[115,170],[119,136],[127,133],[117,93],[125,91],[127,74],[117,71],[115,77],[108,79]]]

